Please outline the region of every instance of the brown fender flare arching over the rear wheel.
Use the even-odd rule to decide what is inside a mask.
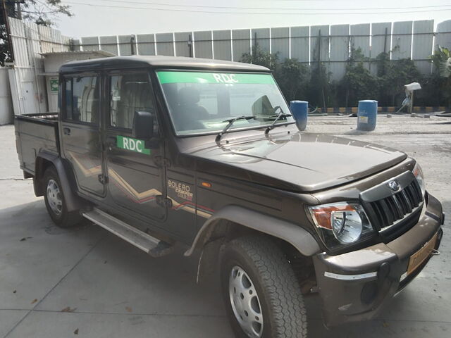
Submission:
[[[84,208],[86,206],[86,201],[75,194],[73,187],[70,185],[70,179],[75,182],[75,177],[70,171],[69,166],[64,164],[60,156],[47,153],[46,151],[39,151],[39,154],[36,156],[35,180],[33,181],[36,196],[42,196],[42,194],[44,194],[44,192],[41,192],[41,189],[39,188],[39,184],[41,182],[41,178],[39,177],[44,176],[44,172],[42,170],[42,160],[39,160],[39,158],[49,161],[54,165],[61,182],[61,189],[63,190],[64,201],[66,201],[66,208],[68,209],[68,212],[79,211],[81,208]]]

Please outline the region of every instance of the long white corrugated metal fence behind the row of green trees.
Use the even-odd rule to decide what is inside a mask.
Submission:
[[[257,42],[261,49],[278,53],[280,61],[297,58],[302,63],[312,64],[320,57],[330,71],[331,79],[340,80],[345,74],[351,49],[362,50],[362,54],[369,58],[364,64],[373,73],[376,73],[376,56],[385,51],[392,60],[412,58],[421,73],[431,74],[428,56],[433,53],[433,48],[438,44],[451,48],[451,20],[438,23],[436,32],[433,27],[433,20],[419,20],[175,32],[135,35],[134,43],[139,55],[187,56],[187,40],[191,35],[195,57],[240,61],[242,54],[249,53],[251,46]],[[320,31],[321,50],[318,39]],[[130,35],[82,37],[81,40],[75,40],[75,46],[79,50],[101,48],[116,55],[130,55]]]

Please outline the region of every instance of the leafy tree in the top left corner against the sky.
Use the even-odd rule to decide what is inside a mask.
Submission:
[[[0,0],[0,4],[1,4]],[[6,15],[3,6],[0,15],[0,65],[11,61],[11,46],[9,45],[8,32],[6,30],[5,16],[20,18],[37,25],[51,26],[58,15],[73,16],[70,6],[63,4],[61,0],[6,0]],[[3,4],[2,4],[3,5]]]

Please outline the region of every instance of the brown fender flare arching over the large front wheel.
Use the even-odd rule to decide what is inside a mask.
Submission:
[[[271,215],[242,208],[241,206],[225,206],[206,220],[199,232],[197,232],[192,246],[185,252],[185,256],[191,256],[196,249],[202,248],[208,242],[214,227],[223,220],[283,239],[304,256],[312,256],[320,251],[316,239],[307,230],[299,227],[299,225],[280,220],[280,218],[275,218]]]

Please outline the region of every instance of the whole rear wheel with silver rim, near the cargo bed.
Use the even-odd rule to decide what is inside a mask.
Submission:
[[[68,212],[58,173],[53,166],[44,173],[44,201],[50,218],[58,227],[71,227],[82,222],[78,211]]]

